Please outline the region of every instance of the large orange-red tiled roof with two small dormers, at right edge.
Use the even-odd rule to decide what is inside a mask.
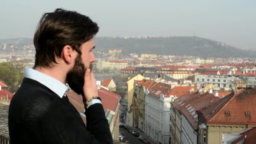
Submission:
[[[206,123],[256,125],[255,104],[256,89],[244,89],[237,95],[231,93],[225,96],[198,113]],[[230,115],[225,115],[225,111],[229,111]],[[247,111],[250,115],[245,115]]]

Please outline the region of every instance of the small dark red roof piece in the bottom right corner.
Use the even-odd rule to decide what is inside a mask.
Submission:
[[[255,136],[256,136],[256,127],[251,128],[248,131],[241,133],[238,139],[232,141],[231,144],[238,144],[240,141],[243,141],[241,144],[255,144]]]

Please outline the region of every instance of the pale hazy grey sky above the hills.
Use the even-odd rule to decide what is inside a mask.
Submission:
[[[0,0],[0,39],[33,37],[45,12],[65,8],[99,24],[97,36],[192,36],[256,48],[256,0]]]

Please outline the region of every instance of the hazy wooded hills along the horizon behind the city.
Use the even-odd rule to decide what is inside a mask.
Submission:
[[[32,44],[31,38],[19,38],[0,40],[17,43],[19,45]],[[129,53],[156,53],[180,56],[200,57],[255,57],[256,51],[245,51],[226,45],[221,42],[201,37],[147,37],[147,38],[123,38],[123,37],[95,37],[95,45],[99,50],[107,52],[109,49],[122,49],[123,55]]]

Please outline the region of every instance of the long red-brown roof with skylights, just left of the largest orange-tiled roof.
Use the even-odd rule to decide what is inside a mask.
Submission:
[[[198,92],[187,93],[172,102],[173,107],[180,111],[190,123],[192,128],[197,129],[197,114],[196,110],[201,109],[214,101],[218,101],[218,97],[213,94],[205,92],[202,95]]]

